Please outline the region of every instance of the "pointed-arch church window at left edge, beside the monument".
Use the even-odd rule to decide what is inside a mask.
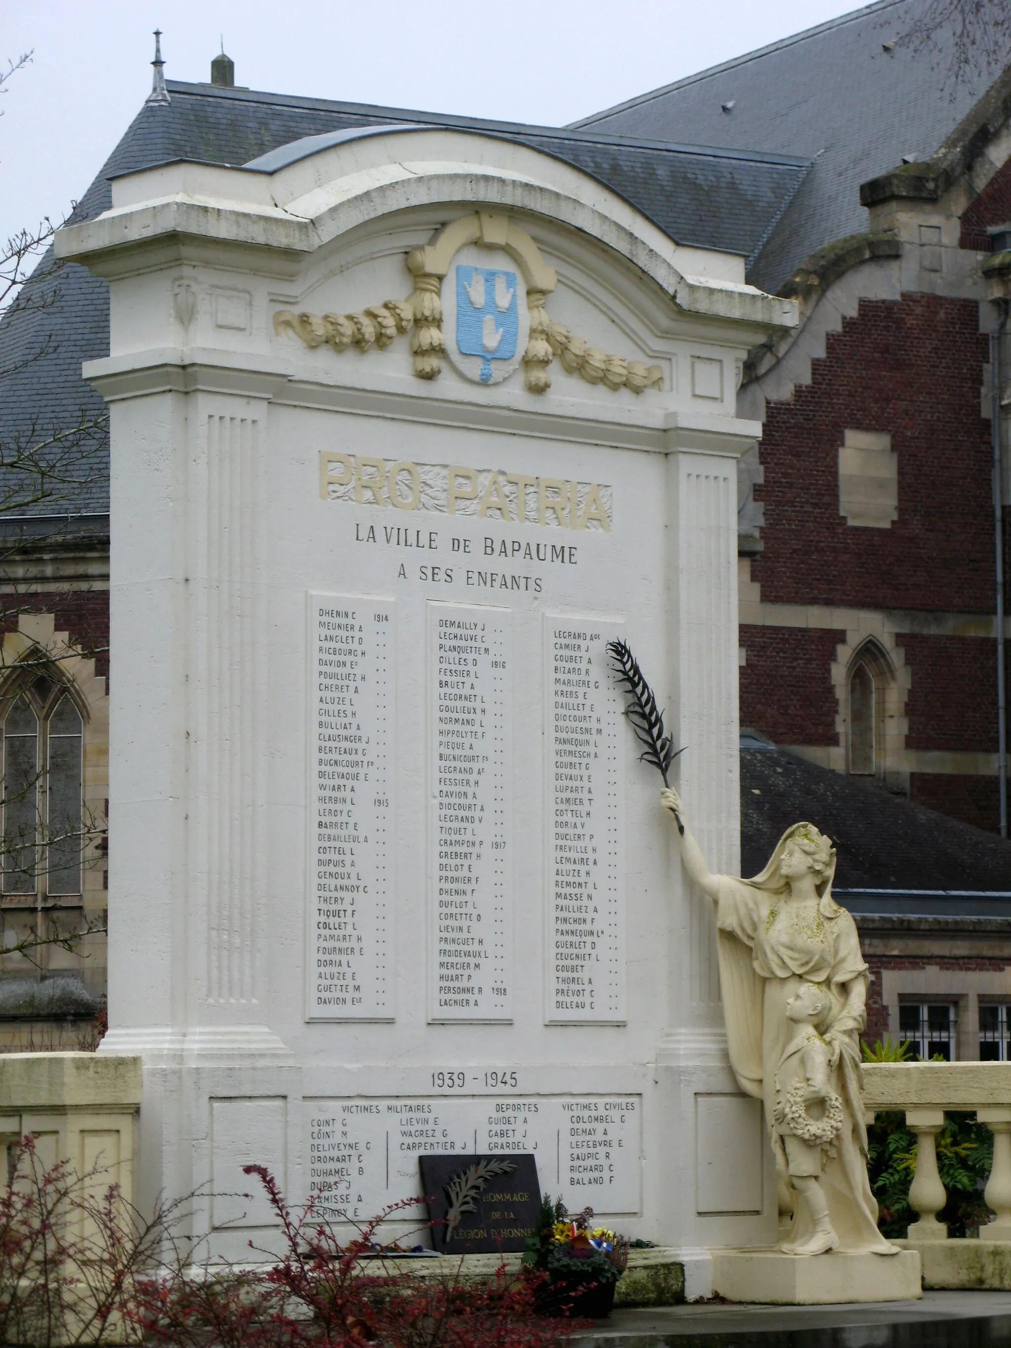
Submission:
[[[3,892],[81,892],[84,721],[66,683],[36,678],[3,716]]]

